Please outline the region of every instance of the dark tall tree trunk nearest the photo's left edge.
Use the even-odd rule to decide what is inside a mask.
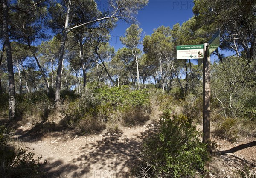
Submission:
[[[7,68],[8,68],[8,82],[9,82],[9,119],[15,118],[15,84],[14,84],[14,73],[12,63],[12,49],[8,34],[8,7],[7,0],[1,0],[1,6],[3,10],[3,38],[6,44],[6,57],[7,57]]]

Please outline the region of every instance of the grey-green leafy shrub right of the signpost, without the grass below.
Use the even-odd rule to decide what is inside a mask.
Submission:
[[[255,118],[255,66],[256,61],[248,63],[243,57],[230,57],[224,60],[223,65],[212,65],[212,95],[214,100],[222,103],[223,114],[251,120]]]

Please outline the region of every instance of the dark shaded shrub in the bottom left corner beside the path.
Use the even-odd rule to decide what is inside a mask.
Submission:
[[[16,149],[9,146],[9,131],[5,126],[0,126],[0,172],[3,178],[13,177],[40,177],[38,171],[39,161],[35,160],[33,152],[26,152],[23,148]],[[45,160],[46,161],[46,160]]]

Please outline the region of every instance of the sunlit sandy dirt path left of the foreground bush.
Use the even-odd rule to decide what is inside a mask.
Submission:
[[[47,159],[43,170],[47,177],[128,177],[137,161],[142,139],[153,124],[124,127],[122,133],[78,136],[54,132],[36,138],[27,133],[29,126],[16,132],[17,144]],[[43,162],[42,161],[42,162]]]

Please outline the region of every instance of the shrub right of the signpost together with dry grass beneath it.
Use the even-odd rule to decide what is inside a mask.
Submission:
[[[229,57],[212,65],[212,121],[215,134],[236,140],[239,135],[255,136],[256,61]]]

